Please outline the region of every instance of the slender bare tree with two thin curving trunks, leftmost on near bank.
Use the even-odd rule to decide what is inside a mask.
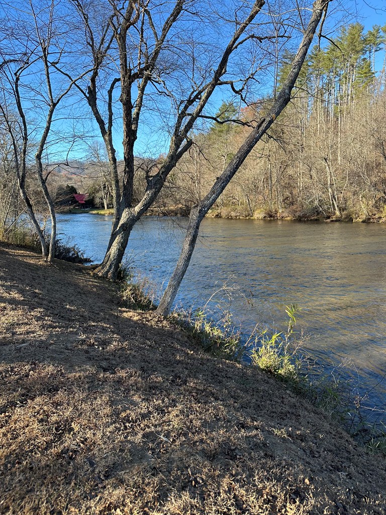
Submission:
[[[25,7],[25,6],[24,6]],[[11,11],[13,13],[13,11]],[[2,25],[3,46],[0,50],[0,73],[3,95],[0,114],[13,146],[13,159],[20,194],[27,212],[39,236],[44,258],[51,261],[55,255],[56,215],[43,163],[49,155],[49,141],[54,114],[73,85],[89,70],[82,71],[75,79],[63,82],[58,74],[66,61],[70,28],[63,12],[54,0],[29,0],[26,9],[15,10]],[[59,28],[60,27],[60,28]],[[34,118],[31,117],[34,112]],[[15,116],[17,112],[19,116]],[[38,134],[40,135],[38,136]],[[60,136],[61,144],[64,135]],[[34,165],[30,151],[34,146]],[[26,190],[28,170],[36,173],[51,220],[49,248],[45,242],[36,212]]]

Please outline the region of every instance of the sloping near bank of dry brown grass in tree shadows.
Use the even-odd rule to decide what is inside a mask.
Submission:
[[[0,513],[386,513],[385,460],[85,267],[0,247]]]

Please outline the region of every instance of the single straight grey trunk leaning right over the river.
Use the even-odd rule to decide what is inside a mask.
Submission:
[[[184,239],[180,258],[176,268],[172,273],[167,288],[162,296],[161,302],[157,307],[156,313],[159,315],[168,315],[177,291],[181,285],[184,274],[190,263],[192,253],[197,241],[200,224],[206,213],[216,202],[218,197],[229,184],[236,171],[240,168],[245,158],[249,155],[256,143],[261,139],[267,130],[271,127],[277,116],[283,111],[291,99],[291,92],[299,76],[304,60],[307,56],[308,49],[312,42],[312,38],[322,18],[323,12],[327,9],[329,0],[316,0],[313,4],[312,14],[305,30],[302,42],[297,50],[297,54],[292,61],[290,72],[283,83],[283,87],[273,102],[273,105],[265,118],[262,118],[259,124],[253,129],[249,136],[245,139],[236,155],[225,168],[209,193],[204,197],[199,206],[196,206],[190,214],[188,229]]]

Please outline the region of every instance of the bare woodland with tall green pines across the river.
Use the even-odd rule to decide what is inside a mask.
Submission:
[[[277,83],[288,71],[290,52],[282,56]],[[384,215],[386,203],[386,25],[365,32],[351,24],[324,47],[314,45],[296,82],[291,104],[256,145],[237,177],[214,205],[218,216],[329,217],[366,219]],[[376,63],[383,63],[377,69]],[[240,142],[251,131],[271,98],[240,108],[223,102],[206,129],[193,136],[194,145],[169,175],[156,208],[183,205],[189,209],[206,194]],[[3,134],[2,190],[12,189],[13,175]],[[58,208],[72,203],[74,192],[89,194],[90,205],[112,208],[109,162],[102,145],[87,147],[86,160],[49,163],[45,173]],[[162,163],[159,158],[135,159],[137,200],[146,188],[146,174]],[[124,164],[118,162],[120,181]],[[45,210],[41,190],[29,176],[30,196]],[[72,186],[70,194],[63,192]],[[5,200],[5,196],[2,196]],[[16,202],[13,212],[23,209]],[[4,211],[4,209],[3,209]]]

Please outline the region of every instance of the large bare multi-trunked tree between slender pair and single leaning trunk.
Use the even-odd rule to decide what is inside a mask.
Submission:
[[[93,21],[95,13],[90,3],[73,2],[83,20],[86,45],[94,63],[87,87],[78,85],[78,89],[98,123],[112,171],[115,215],[107,253],[96,273],[115,280],[132,228],[190,148],[191,131],[207,117],[204,110],[215,90],[226,86],[244,99],[251,80],[267,59],[266,47],[284,37],[286,29],[282,27],[281,35],[277,30],[271,34],[266,30],[268,24],[262,23],[256,33],[254,20],[264,0],[255,0],[249,8],[247,3],[240,3],[232,18],[225,4],[213,9],[198,0],[175,0],[172,4],[111,0],[99,6],[103,10],[102,15],[99,12],[104,20],[102,29]],[[210,36],[205,32],[209,27]],[[216,31],[223,33],[221,39],[216,38]],[[105,84],[104,94],[101,84]],[[117,99],[123,129],[122,184],[113,144]],[[136,201],[134,145],[144,120],[149,122],[149,118],[153,124],[162,119],[170,144],[161,166],[146,176],[145,191]]]

